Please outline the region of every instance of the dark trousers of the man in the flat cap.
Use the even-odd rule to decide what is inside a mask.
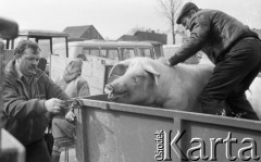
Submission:
[[[220,61],[204,87],[200,100],[204,113],[221,114],[226,108],[228,115],[259,120],[245,91],[261,67],[261,41],[257,38],[239,40]],[[227,107],[228,104],[228,107]]]

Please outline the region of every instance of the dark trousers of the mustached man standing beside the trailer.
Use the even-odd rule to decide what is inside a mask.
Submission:
[[[26,146],[25,148],[26,162],[51,162],[51,157],[44,138]]]

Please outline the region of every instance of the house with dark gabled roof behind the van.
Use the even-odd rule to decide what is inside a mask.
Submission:
[[[67,26],[63,32],[70,35],[69,41],[90,39],[104,40],[92,25]]]

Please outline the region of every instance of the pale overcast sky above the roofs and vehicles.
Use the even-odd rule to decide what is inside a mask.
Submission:
[[[191,1],[261,28],[261,0]],[[136,27],[167,32],[158,9],[157,0],[1,0],[0,16],[16,21],[21,29],[62,32],[66,26],[94,25],[102,37],[117,39]]]

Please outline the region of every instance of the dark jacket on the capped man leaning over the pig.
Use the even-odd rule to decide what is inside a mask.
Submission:
[[[199,50],[216,64],[238,40],[258,35],[236,18],[216,10],[200,10],[189,25],[190,37],[170,59],[175,65],[185,61]]]

